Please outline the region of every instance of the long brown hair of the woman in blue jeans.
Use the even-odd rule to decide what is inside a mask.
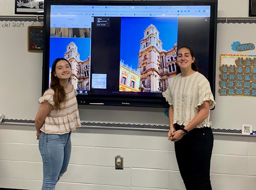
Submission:
[[[56,71],[56,64],[61,61],[67,61],[69,63],[69,61],[67,59],[64,58],[57,58],[53,61],[52,64],[52,68],[51,68],[51,84],[50,84],[50,88],[54,90],[54,96],[53,96],[53,100],[55,102],[55,107],[57,108],[57,110],[60,110],[60,103],[64,102],[67,98],[67,94],[65,92],[65,89],[63,86],[61,86],[59,84],[59,78],[55,75],[55,71]],[[69,63],[69,66],[71,68],[71,65]],[[69,78],[70,80],[70,78]]]

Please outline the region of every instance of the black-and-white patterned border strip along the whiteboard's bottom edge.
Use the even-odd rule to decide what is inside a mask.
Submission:
[[[35,123],[34,120],[26,119],[3,119],[1,123]],[[160,129],[168,130],[169,126],[167,125],[146,125],[146,124],[126,124],[126,123],[96,123],[96,122],[82,122],[83,127],[108,127],[108,128],[123,128],[123,129]],[[212,129],[214,133],[230,133],[230,134],[242,134],[242,130],[237,129]],[[253,131],[256,133],[256,131]]]

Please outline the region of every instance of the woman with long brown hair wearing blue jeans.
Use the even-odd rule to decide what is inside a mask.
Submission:
[[[52,65],[50,87],[39,99],[35,126],[43,160],[42,190],[55,190],[66,172],[71,155],[71,131],[81,126],[77,91],[69,83],[71,74],[70,63],[57,58]]]

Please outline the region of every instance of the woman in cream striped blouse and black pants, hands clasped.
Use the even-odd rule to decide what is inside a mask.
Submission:
[[[198,72],[191,48],[178,49],[177,64],[177,75],[163,92],[170,104],[168,139],[174,142],[186,189],[211,190],[213,134],[209,117],[216,103],[207,78]]]

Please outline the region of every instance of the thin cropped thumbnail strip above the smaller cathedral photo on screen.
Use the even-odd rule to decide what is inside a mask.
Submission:
[[[50,37],[90,38],[90,28],[50,28]]]

